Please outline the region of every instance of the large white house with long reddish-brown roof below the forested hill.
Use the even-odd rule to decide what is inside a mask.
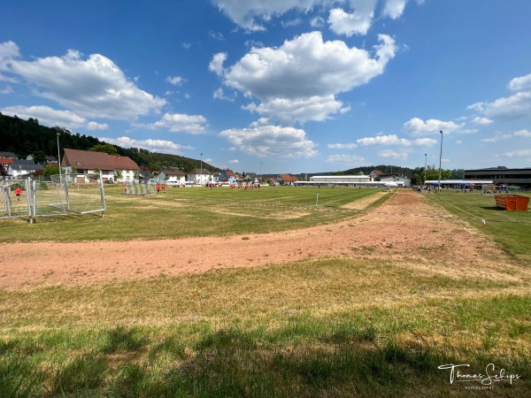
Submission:
[[[61,168],[67,172],[84,174],[85,180],[92,180],[102,172],[103,180],[108,182],[134,180],[135,172],[140,171],[140,167],[129,157],[78,149],[65,149]],[[121,176],[117,178],[119,174]]]

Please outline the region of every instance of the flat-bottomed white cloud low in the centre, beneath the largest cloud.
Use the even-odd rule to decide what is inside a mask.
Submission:
[[[296,159],[317,155],[316,144],[304,130],[282,126],[258,126],[224,130],[219,135],[248,155]]]

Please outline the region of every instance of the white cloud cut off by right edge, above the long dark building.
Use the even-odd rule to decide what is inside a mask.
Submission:
[[[498,98],[493,102],[473,103],[467,108],[479,111],[489,119],[520,119],[531,114],[531,74],[512,79],[508,88],[512,96]]]

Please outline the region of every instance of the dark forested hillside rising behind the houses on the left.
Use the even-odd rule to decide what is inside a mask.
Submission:
[[[47,156],[57,158],[58,133],[61,134],[59,138],[61,149],[89,150],[95,145],[107,143],[90,135],[73,134],[59,126],[41,126],[38,119],[24,120],[0,113],[0,151],[13,152],[17,157],[26,158],[32,155],[37,162],[43,162]],[[113,147],[118,150],[119,155],[130,157],[136,164],[148,166],[152,170],[162,167],[178,167],[189,172],[201,166],[201,160],[189,157],[150,152],[147,149],[126,149],[118,145],[113,145]],[[218,167],[205,162],[203,162],[203,168],[211,172],[220,171]]]

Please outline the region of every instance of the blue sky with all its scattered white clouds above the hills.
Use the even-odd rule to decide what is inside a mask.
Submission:
[[[445,169],[531,166],[529,0],[2,8],[5,115],[235,172],[438,167],[440,131]]]

